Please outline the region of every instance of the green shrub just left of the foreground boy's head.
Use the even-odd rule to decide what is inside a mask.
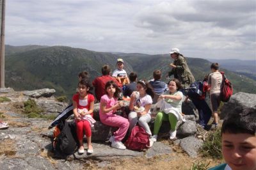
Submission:
[[[221,159],[221,129],[218,128],[215,131],[211,132],[202,148],[200,149],[203,157],[211,157]]]

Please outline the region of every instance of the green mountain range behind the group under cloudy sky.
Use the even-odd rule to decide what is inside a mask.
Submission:
[[[152,79],[154,70],[164,75],[170,71],[172,62],[168,54],[148,55],[140,53],[95,52],[64,46],[38,45],[14,47],[6,45],[5,86],[15,90],[54,88],[56,95],[72,97],[77,88],[77,74],[83,70],[90,73],[90,80],[101,75],[102,65],[108,64],[112,71],[116,59],[123,58],[127,73],[137,72],[139,79]],[[196,80],[202,80],[210,72],[211,62],[200,58],[186,58]],[[256,93],[252,79],[224,70],[234,84],[234,91]],[[167,80],[164,80],[167,81]]]

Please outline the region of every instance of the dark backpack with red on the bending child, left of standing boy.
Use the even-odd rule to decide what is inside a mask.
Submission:
[[[204,82],[202,81],[195,81],[190,84],[188,88],[188,97],[192,99],[200,99],[204,100],[206,96],[205,88],[204,88]]]

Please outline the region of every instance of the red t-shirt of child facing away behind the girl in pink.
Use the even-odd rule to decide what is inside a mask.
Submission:
[[[108,81],[114,81],[117,86],[120,87],[120,83],[116,81],[115,77],[111,77],[110,75],[102,75],[100,77],[97,77],[92,82],[92,85],[95,88],[95,95],[98,101],[100,101],[100,98],[105,95],[105,85]]]

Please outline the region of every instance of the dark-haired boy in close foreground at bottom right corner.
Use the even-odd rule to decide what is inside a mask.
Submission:
[[[221,148],[226,163],[209,170],[256,169],[255,112],[255,108],[245,109],[225,118],[221,128]]]

